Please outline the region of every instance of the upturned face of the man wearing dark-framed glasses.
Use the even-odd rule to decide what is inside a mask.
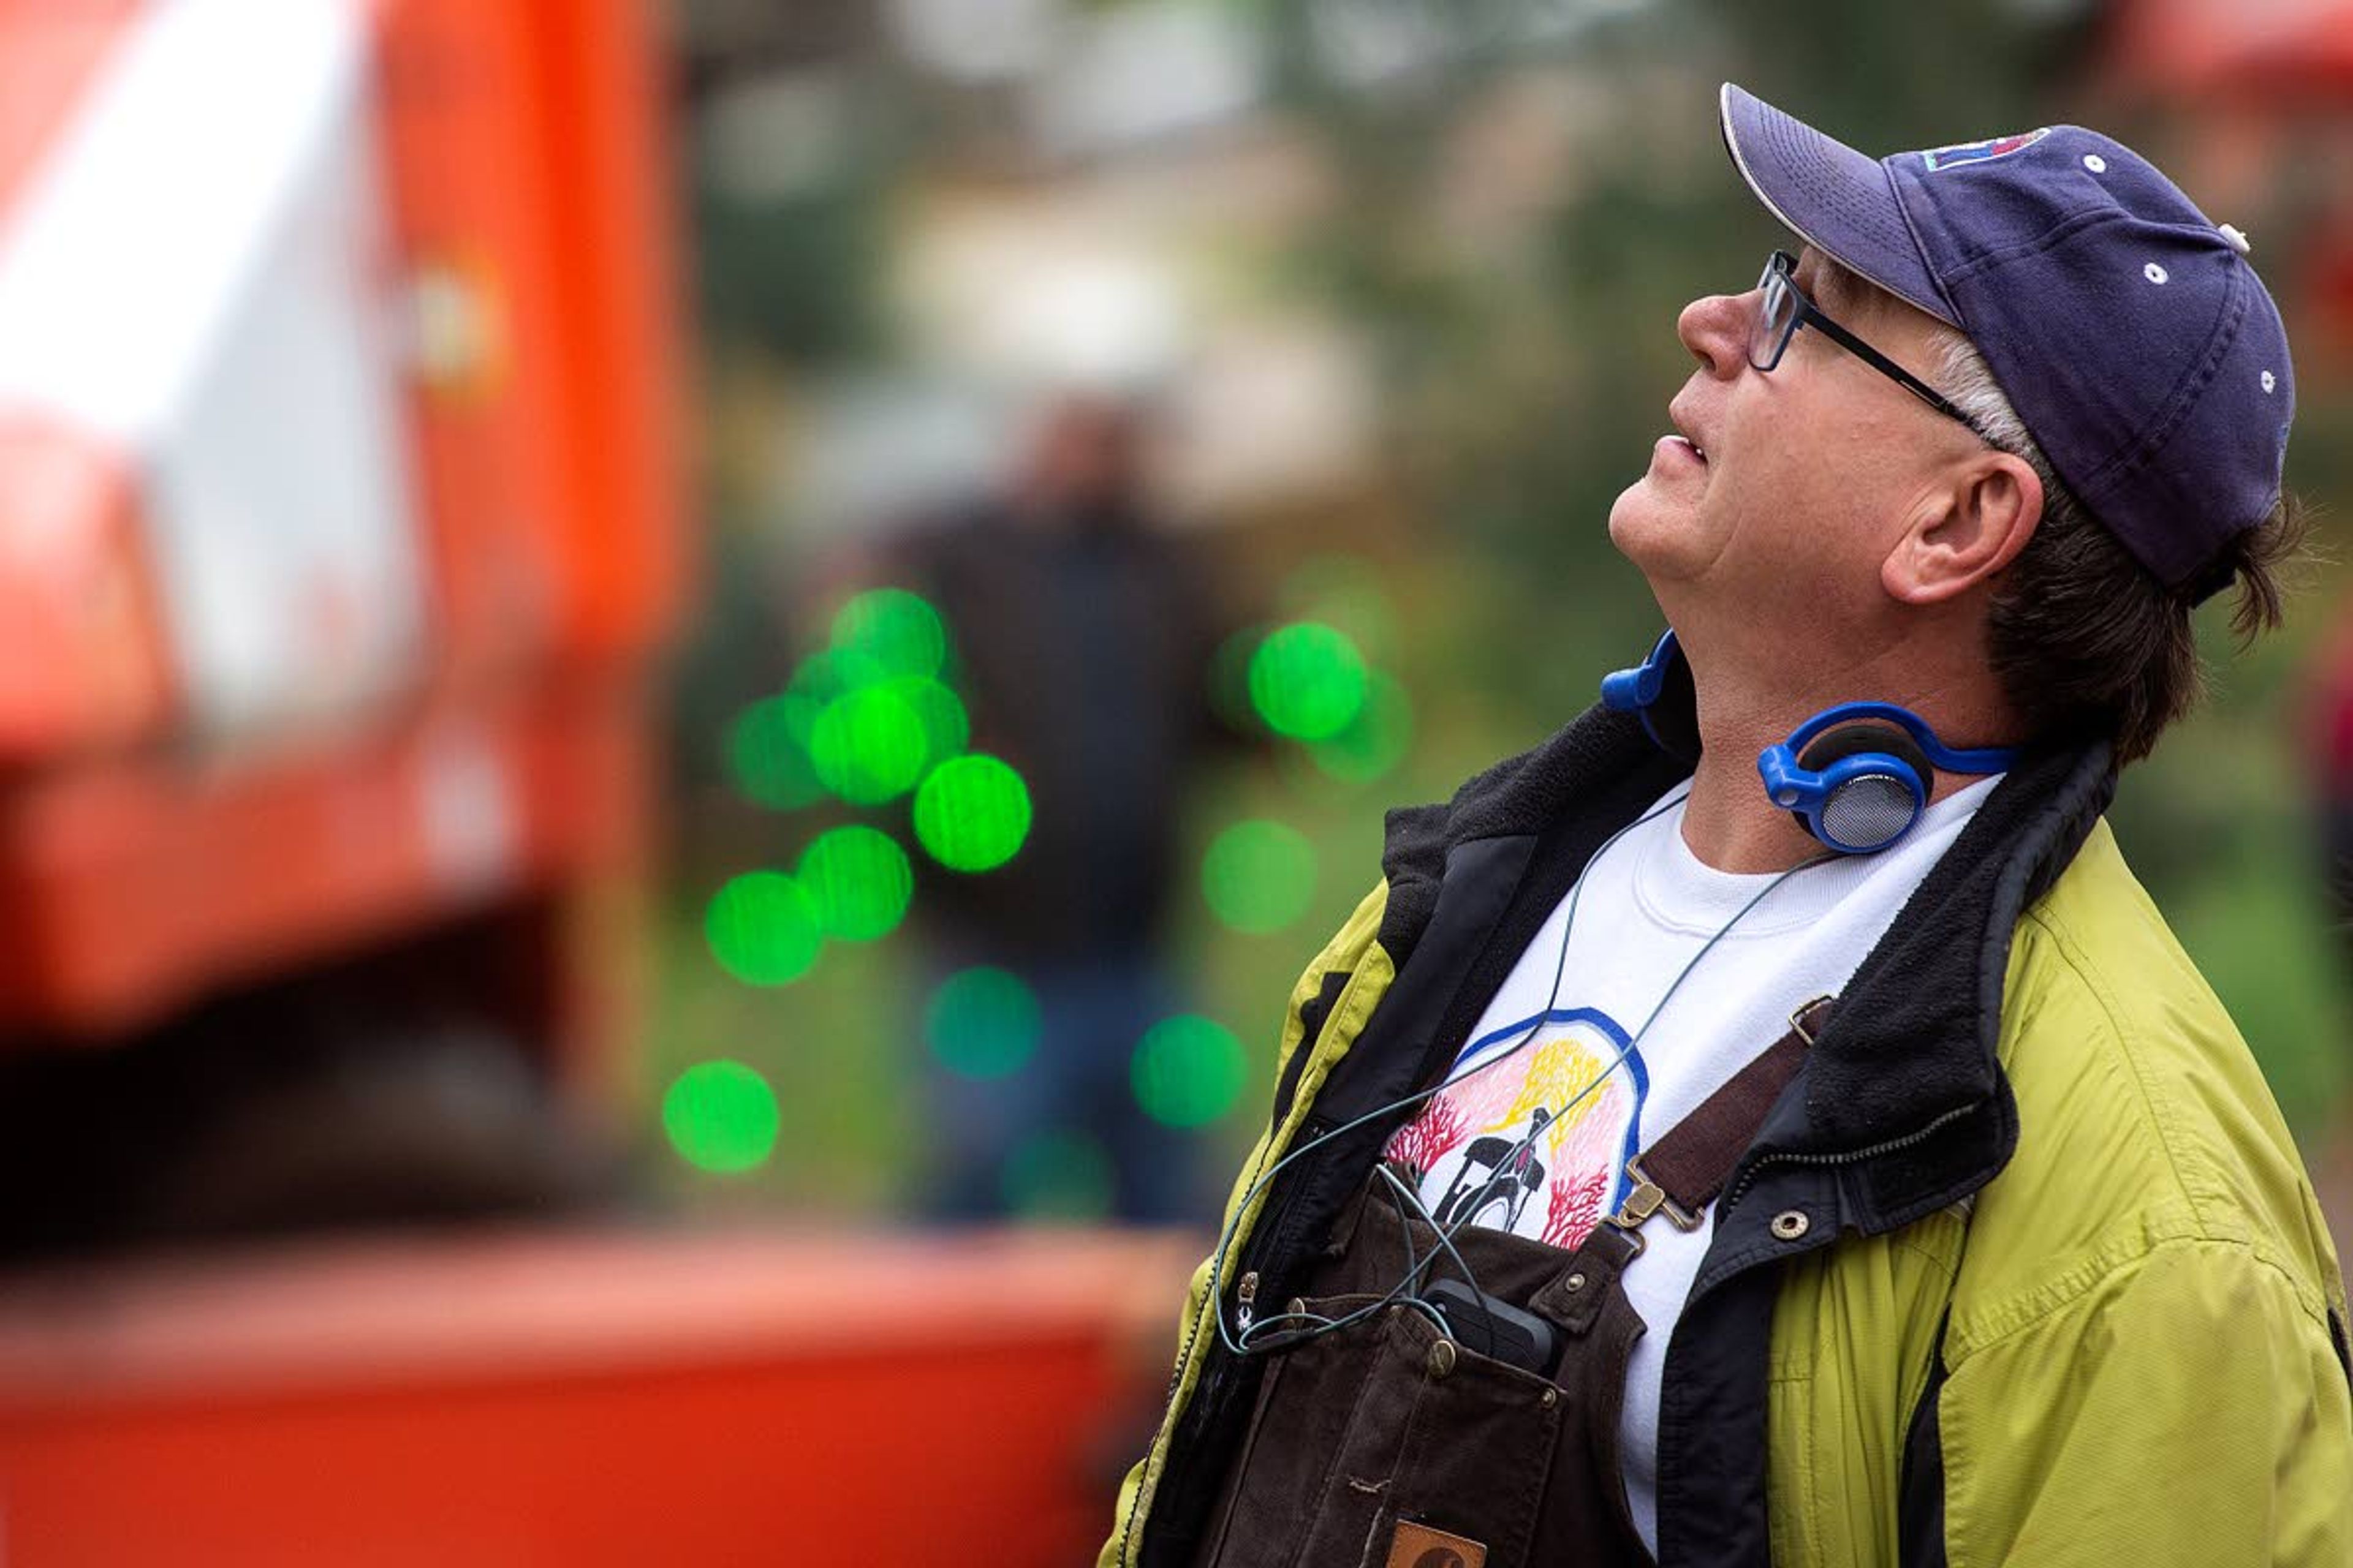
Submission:
[[[1807,247],[1798,289],[1934,386],[1937,322]],[[1748,364],[1762,294],[1711,294],[1675,331],[1699,369],[1668,404],[1680,435],[1609,508],[1609,538],[1685,632],[1802,642],[1889,609],[1880,562],[1939,465],[1981,444],[1814,329],[1772,371]]]

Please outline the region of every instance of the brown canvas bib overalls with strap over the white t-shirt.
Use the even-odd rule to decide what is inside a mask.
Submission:
[[[1478,1321],[1407,1300],[1464,1267],[1374,1171],[1287,1312],[1337,1321],[1391,1300],[1273,1342],[1198,1568],[1649,1568],[1619,1465],[1626,1363],[1645,1331],[1624,1272],[1661,1208],[1701,1222],[1826,1018],[1828,1001],[1800,1009],[1781,1041],[1628,1161],[1633,1194],[1577,1251],[1452,1232],[1478,1291],[1551,1324],[1541,1371],[1482,1354]]]

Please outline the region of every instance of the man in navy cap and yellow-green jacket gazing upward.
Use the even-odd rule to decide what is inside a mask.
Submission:
[[[1393,816],[1101,1561],[2353,1561],[2320,1211],[2101,820],[2278,616],[2247,240],[2078,127],[1722,129],[1802,252],[1612,510],[1675,632]]]

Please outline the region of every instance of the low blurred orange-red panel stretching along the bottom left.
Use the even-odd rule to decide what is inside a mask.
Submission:
[[[0,1298],[0,1552],[1087,1563],[1195,1251],[541,1234],[49,1274]]]

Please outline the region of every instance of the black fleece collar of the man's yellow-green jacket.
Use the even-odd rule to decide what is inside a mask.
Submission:
[[[1393,811],[1381,856],[1391,884],[1381,945],[1405,964],[1459,844],[1541,835],[1572,816],[1598,816],[1588,830],[1605,835],[1685,771],[1652,745],[1638,719],[1595,705],[1534,750],[1468,780],[1452,804]],[[1969,1117],[1979,1135],[1925,1140],[1927,1147],[1894,1161],[1894,1187],[1882,1185],[1849,1215],[1866,1229],[1908,1222],[1951,1201],[1946,1194],[1981,1185],[2009,1159],[2017,1114],[1995,1063],[2009,938],[2113,795],[2106,741],[2021,755],[1847,983],[1800,1091],[1774,1110],[1753,1157],[1852,1157],[1951,1124],[1960,1112],[1981,1112]],[[1955,1159],[1969,1168],[1946,1168]]]

